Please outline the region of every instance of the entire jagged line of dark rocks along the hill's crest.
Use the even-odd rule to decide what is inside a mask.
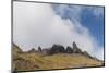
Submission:
[[[32,48],[29,51],[27,51],[27,53],[35,53],[35,52],[39,52],[43,54],[55,54],[55,53],[81,53],[84,54],[88,58],[92,58],[87,51],[82,51],[76,42],[72,44],[73,47],[68,46],[66,48],[64,48],[62,45],[53,45],[51,48],[41,48],[40,46],[38,47],[38,49],[36,50],[35,48]],[[17,46],[14,46],[16,48],[19,48]],[[22,51],[21,49],[19,49],[19,51]]]

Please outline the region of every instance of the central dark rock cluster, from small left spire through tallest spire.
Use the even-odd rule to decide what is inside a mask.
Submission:
[[[38,52],[43,52],[44,54],[55,54],[55,53],[82,53],[82,50],[73,42],[73,48],[68,46],[66,49],[61,45],[53,45],[49,49],[43,49],[38,47]]]

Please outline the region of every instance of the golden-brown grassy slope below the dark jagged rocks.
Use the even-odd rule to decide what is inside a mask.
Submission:
[[[101,66],[104,62],[82,56],[80,53],[56,53],[44,56],[39,52],[23,52],[13,46],[13,70],[51,70],[83,66]]]

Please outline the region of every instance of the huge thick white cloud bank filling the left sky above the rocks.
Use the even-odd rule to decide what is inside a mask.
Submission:
[[[89,53],[98,47],[86,27],[76,20],[72,23],[56,15],[50,4],[14,2],[13,5],[13,41],[24,51],[53,44],[66,47],[73,41]]]

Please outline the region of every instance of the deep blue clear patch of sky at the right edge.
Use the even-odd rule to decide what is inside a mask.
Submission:
[[[97,10],[95,7],[95,10]],[[104,11],[104,9],[98,10]],[[104,12],[100,16],[96,16],[92,10],[84,9],[81,23],[88,27],[90,34],[96,38],[100,46],[104,46]]]

